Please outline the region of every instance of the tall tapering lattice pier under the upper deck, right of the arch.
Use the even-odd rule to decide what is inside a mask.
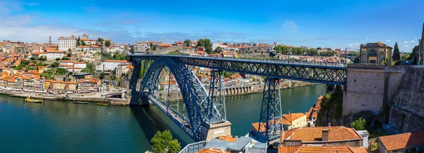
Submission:
[[[278,140],[283,131],[281,121],[280,80],[266,78],[262,96],[261,115],[258,131],[252,131],[252,136],[259,142]]]

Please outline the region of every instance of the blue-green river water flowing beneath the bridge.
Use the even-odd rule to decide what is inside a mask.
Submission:
[[[283,114],[306,112],[325,85],[281,90]],[[226,97],[232,135],[259,121],[262,93]],[[145,152],[156,130],[171,130],[182,147],[193,141],[155,106],[23,102],[0,95],[0,152]]]

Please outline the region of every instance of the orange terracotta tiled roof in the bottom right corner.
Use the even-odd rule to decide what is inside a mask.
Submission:
[[[424,130],[415,133],[401,133],[378,137],[387,151],[424,145]]]

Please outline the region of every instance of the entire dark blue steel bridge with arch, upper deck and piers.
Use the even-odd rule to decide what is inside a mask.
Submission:
[[[281,100],[279,95],[279,79],[300,80],[306,82],[318,82],[326,85],[346,85],[347,70],[345,66],[336,64],[310,64],[288,63],[278,60],[255,60],[255,59],[225,59],[204,56],[170,56],[170,55],[131,55],[134,73],[131,77],[130,87],[134,96],[139,99],[148,97],[157,91],[158,78],[163,68],[167,67],[175,76],[179,90],[184,99],[187,114],[179,114],[184,123],[177,121],[174,116],[163,110],[165,114],[173,118],[187,134],[195,141],[204,140],[201,127],[205,124],[222,123],[226,121],[225,100],[220,97],[223,90],[221,86],[221,71],[247,73],[251,75],[265,76],[264,95],[259,118],[259,131],[252,132],[252,136],[260,141],[273,140],[283,129],[279,126],[278,118],[281,117]],[[141,61],[154,61],[141,82],[141,89],[136,91],[135,84],[139,78]],[[146,63],[146,62],[144,62]],[[146,66],[146,64],[143,64]],[[188,66],[211,68],[211,84],[209,94],[196,75]],[[145,69],[145,68],[144,68]],[[211,97],[209,97],[211,95]],[[163,102],[158,99],[158,102]],[[143,100],[131,102],[132,104],[143,103]],[[165,104],[165,102],[163,102]],[[187,126],[189,125],[189,126]],[[264,127],[265,130],[261,130]]]

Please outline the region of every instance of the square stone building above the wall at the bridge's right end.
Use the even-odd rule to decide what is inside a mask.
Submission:
[[[382,63],[387,59],[391,63],[391,47],[382,42],[367,43],[360,45],[361,63]]]

